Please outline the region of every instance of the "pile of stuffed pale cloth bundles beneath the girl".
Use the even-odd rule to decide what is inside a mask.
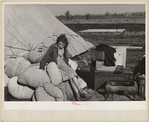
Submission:
[[[34,50],[6,61],[5,83],[8,92],[14,98],[34,101],[71,101],[75,99],[69,83],[62,82],[60,71],[55,63],[48,64],[46,70],[39,69],[39,62],[47,50],[43,44],[40,44]],[[87,86],[83,79],[78,78],[78,80],[82,88]],[[43,88],[43,83],[50,84],[50,94]]]

